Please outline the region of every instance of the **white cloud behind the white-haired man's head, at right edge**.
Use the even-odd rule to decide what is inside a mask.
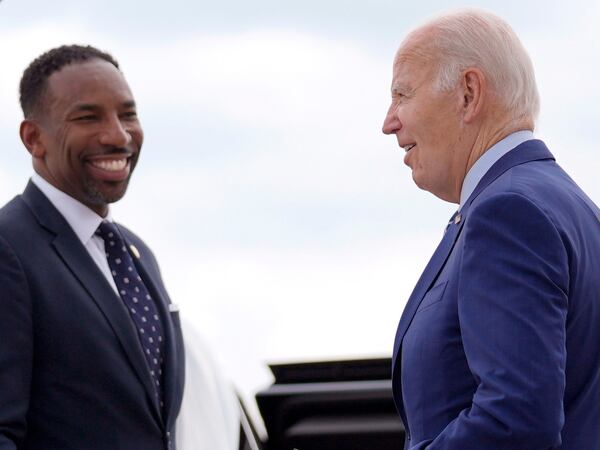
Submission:
[[[600,5],[590,4],[585,14],[565,22],[564,28],[523,39],[536,68],[542,103],[537,134],[596,203],[600,202],[596,181],[600,60],[592,49],[600,45],[599,18]]]

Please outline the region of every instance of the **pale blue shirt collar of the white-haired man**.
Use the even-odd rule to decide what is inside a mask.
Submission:
[[[460,211],[462,209],[465,202],[469,199],[483,176],[488,170],[490,170],[496,161],[498,161],[516,146],[533,138],[533,131],[531,130],[516,131],[512,134],[509,134],[504,139],[496,142],[488,150],[486,150],[485,153],[481,155],[477,161],[475,161],[473,167],[471,167],[467,172],[467,176],[463,181],[463,186],[460,191],[460,206],[458,207],[458,210]]]

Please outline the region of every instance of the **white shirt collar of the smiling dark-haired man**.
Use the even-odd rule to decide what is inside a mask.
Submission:
[[[101,217],[83,203],[48,183],[37,173],[32,175],[31,181],[62,214],[83,245],[86,245],[94,235],[100,222],[103,220],[112,222],[113,220],[110,208],[106,217]]]

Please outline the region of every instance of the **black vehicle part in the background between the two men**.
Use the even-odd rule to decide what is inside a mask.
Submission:
[[[263,448],[402,448],[390,367],[389,358],[271,365],[275,382],[256,395],[268,433]],[[240,449],[254,447],[246,442]]]

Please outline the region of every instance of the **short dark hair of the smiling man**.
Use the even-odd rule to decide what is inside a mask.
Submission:
[[[19,101],[23,115],[28,118],[39,111],[50,75],[69,64],[92,59],[102,59],[119,68],[119,63],[111,55],[91,45],[62,45],[34,59],[23,72],[19,84]]]

